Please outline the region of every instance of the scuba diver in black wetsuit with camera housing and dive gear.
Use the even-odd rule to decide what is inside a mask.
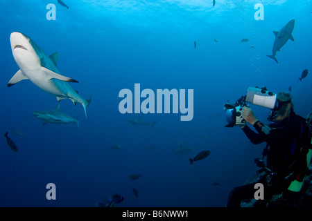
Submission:
[[[263,102],[263,97],[259,99],[258,96],[262,94],[266,94],[267,101],[258,104],[257,99],[260,103]],[[307,120],[297,115],[288,92],[275,95],[268,93],[266,88],[249,88],[246,96],[241,97],[234,106],[225,104],[225,108],[232,113],[232,122],[228,120],[227,127],[241,127],[252,144],[267,143],[263,151],[263,157],[267,157],[267,165],[259,158],[255,160],[257,166],[262,167],[266,173],[257,182],[232,189],[227,207],[240,207],[242,200],[254,198],[254,185],[257,183],[263,184],[264,199],[257,200],[254,207],[267,206],[272,195],[279,193],[283,194],[284,199],[293,202],[296,193],[301,189],[311,160],[311,114]],[[246,101],[271,108],[268,120],[273,123],[261,123],[252,109],[245,104]],[[257,132],[247,126],[247,123],[254,126]]]

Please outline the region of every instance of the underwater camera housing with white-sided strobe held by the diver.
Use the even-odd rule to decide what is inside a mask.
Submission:
[[[247,95],[241,96],[235,104],[225,104],[225,119],[227,120],[225,127],[243,126],[247,123],[242,116],[243,107],[248,106],[246,102],[272,109],[275,107],[276,98],[277,95],[268,91],[266,87],[249,87]]]

